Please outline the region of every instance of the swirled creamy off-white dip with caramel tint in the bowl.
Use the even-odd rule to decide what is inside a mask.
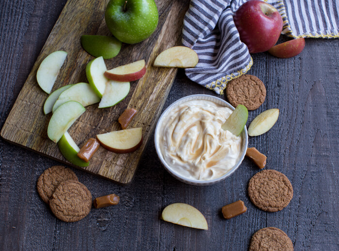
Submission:
[[[206,100],[187,101],[163,118],[158,143],[165,161],[179,175],[211,180],[239,160],[242,139],[221,125],[232,110]]]

